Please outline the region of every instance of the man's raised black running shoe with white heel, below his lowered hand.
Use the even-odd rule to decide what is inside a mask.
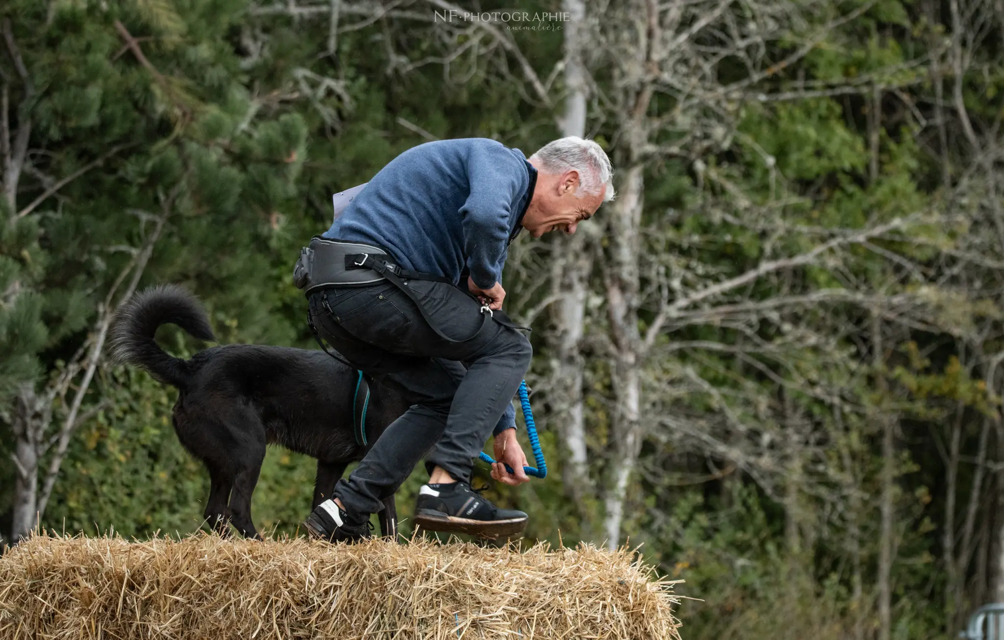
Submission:
[[[526,513],[500,509],[467,482],[423,484],[415,505],[415,523],[431,531],[481,538],[512,536],[526,528]]]

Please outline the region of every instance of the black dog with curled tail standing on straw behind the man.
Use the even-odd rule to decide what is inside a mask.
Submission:
[[[361,460],[387,426],[408,410],[400,394],[371,382],[365,413],[368,445],[359,446],[352,425],[355,371],[320,351],[259,345],[214,347],[181,360],[154,340],[157,329],[168,323],[215,341],[198,298],[177,285],[157,286],[137,294],[117,312],[111,330],[113,358],[143,367],[181,392],[173,415],[175,432],[209,470],[204,517],[223,536],[229,521],[244,537],[261,540],[251,520],[251,493],[266,445],[317,458],[312,509],[331,496],[348,463]],[[379,517],[384,536],[394,539],[393,495]]]

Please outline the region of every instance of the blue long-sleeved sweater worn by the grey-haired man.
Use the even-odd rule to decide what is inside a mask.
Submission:
[[[383,246],[398,264],[481,288],[502,281],[509,243],[537,170],[518,149],[486,138],[413,147],[392,160],[322,235]],[[512,404],[494,433],[516,426]]]

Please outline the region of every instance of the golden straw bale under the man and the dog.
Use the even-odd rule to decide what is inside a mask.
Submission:
[[[626,550],[35,536],[0,557],[0,638],[677,639]]]

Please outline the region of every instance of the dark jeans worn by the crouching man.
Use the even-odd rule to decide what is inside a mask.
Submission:
[[[415,302],[390,282],[310,295],[310,314],[321,336],[345,360],[397,385],[413,403],[335,485],[334,495],[360,520],[383,507],[382,500],[398,490],[423,457],[430,472],[439,465],[469,482],[473,458],[530,366],[530,342],[481,313],[473,296],[445,282],[410,280],[407,286],[437,329],[464,342],[437,336]]]

